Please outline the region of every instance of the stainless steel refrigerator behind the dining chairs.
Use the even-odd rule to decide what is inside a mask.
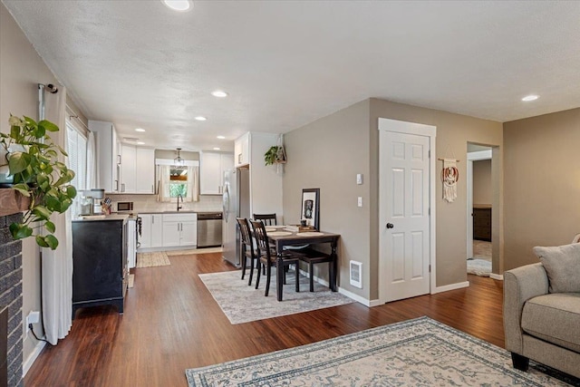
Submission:
[[[236,218],[250,218],[249,187],[249,169],[234,168],[224,172],[223,257],[237,267],[240,266],[240,240]]]

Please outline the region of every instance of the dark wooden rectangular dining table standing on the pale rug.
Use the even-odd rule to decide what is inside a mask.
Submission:
[[[282,235],[284,234],[284,235]],[[329,265],[329,283],[330,288],[333,292],[336,292],[337,285],[336,285],[336,273],[338,270],[338,255],[336,254],[336,246],[338,244],[338,239],[341,237],[340,234],[334,234],[324,231],[310,231],[310,232],[294,232],[288,231],[285,228],[276,228],[273,230],[272,228],[268,227],[266,231],[266,235],[275,246],[276,252],[276,265],[275,265],[275,273],[276,273],[276,289],[275,294],[278,301],[282,301],[282,289],[284,285],[284,266],[282,265],[282,253],[285,250],[285,247],[298,247],[304,245],[319,245],[328,243],[331,247],[331,261],[328,263]],[[298,270],[298,267],[296,267]],[[310,273],[310,276],[313,274]]]

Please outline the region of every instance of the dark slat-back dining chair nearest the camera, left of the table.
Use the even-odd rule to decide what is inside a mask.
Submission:
[[[272,266],[276,265],[276,260],[278,259],[275,254],[272,254],[272,250],[270,249],[270,244],[268,242],[268,236],[266,234],[266,227],[264,227],[264,222],[262,220],[252,220],[250,219],[250,223],[252,224],[252,228],[254,230],[254,237],[256,238],[256,246],[257,246],[257,256],[259,259],[259,263],[266,268],[266,297],[268,296],[268,292],[270,290],[270,278],[272,277]],[[294,252],[285,251],[282,254],[282,267],[285,269],[290,265],[295,265],[296,271],[296,283],[295,288],[296,292],[300,292],[300,270],[298,269],[300,266],[300,257],[298,254]],[[283,269],[283,270],[284,270]],[[257,270],[257,277],[256,277],[256,289],[260,284],[260,272],[262,270]],[[284,282],[285,282],[285,270],[284,270]]]

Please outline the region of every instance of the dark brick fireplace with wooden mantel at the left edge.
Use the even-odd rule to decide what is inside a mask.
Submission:
[[[22,219],[20,211],[26,206],[16,195],[12,189],[0,189],[0,310],[7,307],[7,332],[0,332],[0,364],[5,364],[11,387],[23,385],[22,241],[14,241],[8,227]]]

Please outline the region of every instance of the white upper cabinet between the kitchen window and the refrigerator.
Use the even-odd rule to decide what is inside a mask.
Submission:
[[[234,155],[202,152],[199,168],[199,193],[201,195],[221,195],[224,187],[224,171],[234,168]]]

